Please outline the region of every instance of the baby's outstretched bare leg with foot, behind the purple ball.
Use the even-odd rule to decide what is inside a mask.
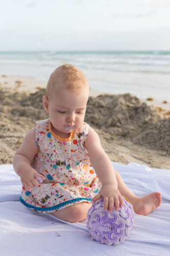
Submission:
[[[118,190],[123,196],[129,199],[129,201],[133,205],[136,214],[148,215],[151,211],[153,211],[161,204],[161,194],[159,192],[154,192],[141,198],[137,197],[125,184],[122,177],[117,173],[117,171],[115,171],[115,174],[118,183]]]

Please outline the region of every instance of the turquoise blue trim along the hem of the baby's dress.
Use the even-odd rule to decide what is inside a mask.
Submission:
[[[57,205],[54,205],[54,206],[51,206],[51,207],[37,207],[37,206],[34,206],[34,205],[30,205],[28,203],[26,203],[21,197],[19,198],[19,201],[24,204],[25,206],[27,206],[28,208],[30,209],[35,209],[37,211],[51,211],[51,210],[56,210],[66,204],[69,204],[69,203],[74,203],[74,202],[77,202],[79,200],[87,200],[87,201],[91,201],[91,198],[84,198],[84,197],[80,197],[80,198],[75,198],[75,199],[72,199],[72,200],[69,200],[69,201],[66,201],[66,202],[63,202],[61,204],[57,204]]]

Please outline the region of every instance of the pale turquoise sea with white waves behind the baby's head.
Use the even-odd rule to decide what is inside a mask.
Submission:
[[[80,68],[101,93],[170,102],[170,51],[0,52],[0,74],[47,81],[63,63]]]

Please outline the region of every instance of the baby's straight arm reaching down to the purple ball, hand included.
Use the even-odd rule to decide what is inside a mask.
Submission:
[[[89,154],[90,163],[103,185],[100,193],[93,198],[93,201],[98,200],[102,196],[105,210],[109,207],[111,212],[114,205],[115,209],[118,210],[119,206],[123,205],[123,199],[117,188],[115,170],[109,157],[103,150],[98,134],[91,127],[89,127],[85,148]]]

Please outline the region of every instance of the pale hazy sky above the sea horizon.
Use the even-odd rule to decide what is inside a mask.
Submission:
[[[0,4],[0,51],[170,50],[170,0]]]

